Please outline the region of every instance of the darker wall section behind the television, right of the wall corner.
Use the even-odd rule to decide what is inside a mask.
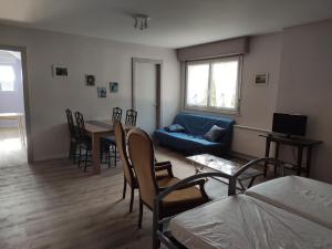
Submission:
[[[277,110],[308,115],[312,176],[332,183],[332,20],[283,31]],[[286,149],[283,156],[290,157]]]

